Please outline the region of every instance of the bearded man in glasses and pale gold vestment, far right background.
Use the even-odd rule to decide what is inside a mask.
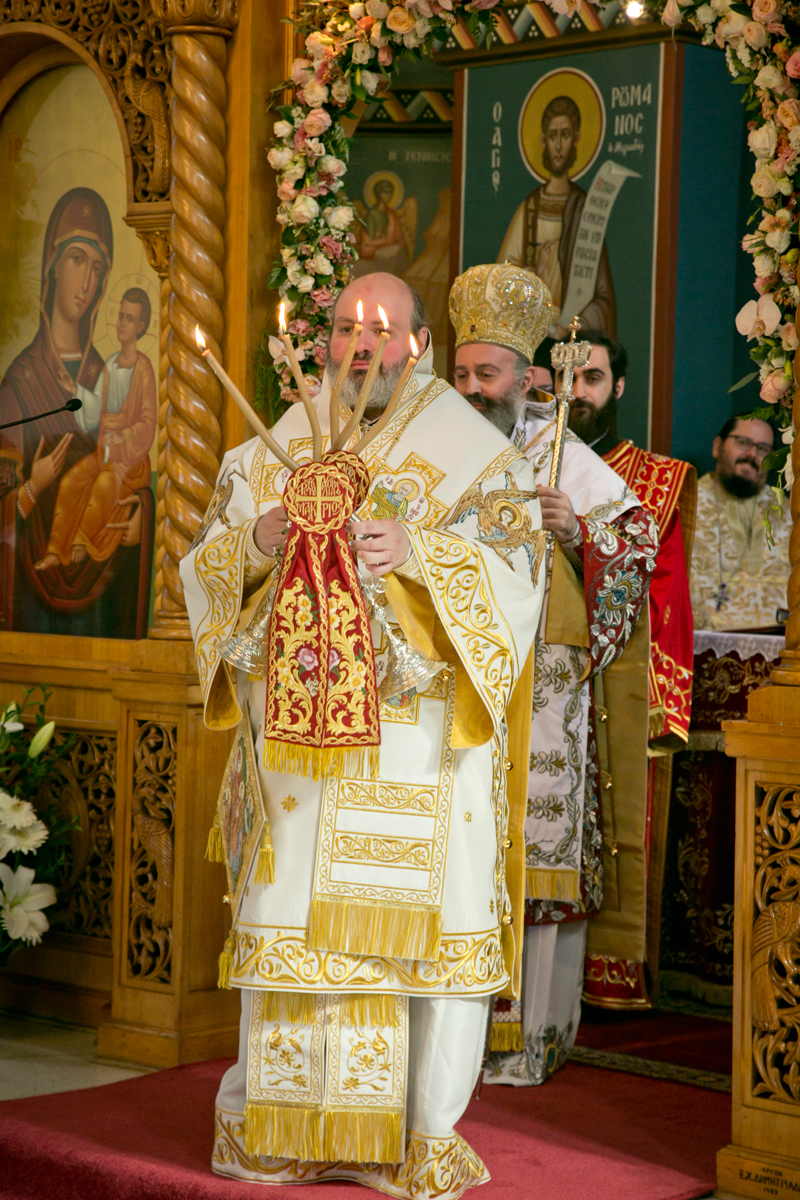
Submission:
[[[697,484],[694,629],[769,629],[786,608],[792,514],[787,498],[778,505],[762,469],[774,437],[766,421],[729,416],[714,439],[716,469]]]

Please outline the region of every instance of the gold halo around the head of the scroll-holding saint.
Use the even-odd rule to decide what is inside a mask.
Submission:
[[[579,179],[600,154],[606,133],[606,106],[600,90],[588,74],[573,68],[560,68],[542,76],[528,92],[519,112],[519,152],[534,179],[545,184],[551,173],[545,167],[542,146],[542,115],[551,101],[569,96],[581,113],[581,138],[570,179]]]

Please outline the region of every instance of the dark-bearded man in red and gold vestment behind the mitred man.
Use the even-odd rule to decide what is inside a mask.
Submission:
[[[692,608],[686,564],[691,560],[697,473],[687,462],[640,450],[616,436],[616,404],[625,390],[627,354],[597,330],[582,331],[591,358],[576,371],[570,428],[612,467],[658,526],[658,556],[650,582],[648,763],[646,958],[657,965],[661,886],[669,810],[670,754],[688,739],[692,697]],[[614,714],[609,713],[609,720]],[[616,806],[625,797],[616,797]],[[601,934],[606,914],[594,925]],[[612,917],[613,920],[613,917]],[[593,955],[589,934],[584,1000],[607,1008],[649,1006],[644,965]]]

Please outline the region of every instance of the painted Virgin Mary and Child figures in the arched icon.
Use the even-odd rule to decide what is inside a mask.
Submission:
[[[0,434],[5,629],[146,634],[157,395],[137,341],[151,311],[144,289],[124,294],[120,349],[103,362],[92,336],[112,262],[104,200],[72,188],[44,235],[38,331],[0,384],[0,421],[38,418]],[[72,396],[78,412],[40,415]]]

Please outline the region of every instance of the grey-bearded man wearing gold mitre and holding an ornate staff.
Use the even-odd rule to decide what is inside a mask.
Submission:
[[[486,1075],[488,1082],[516,1085],[545,1082],[575,1044],[587,918],[603,905],[603,878],[614,910],[603,913],[603,920],[610,917],[612,926],[619,928],[608,932],[607,946],[601,941],[599,953],[644,944],[649,650],[644,601],[657,529],[619,475],[569,430],[559,487],[548,486],[555,401],[545,392],[525,401],[541,334],[507,314],[509,305],[522,314],[542,295],[547,302],[542,281],[511,264],[470,268],[450,295],[456,388],[523,448],[540,494],[542,526],[555,535],[536,636],[524,830],[523,994],[521,1002],[497,1004],[492,1027],[497,1052]],[[509,298],[505,306],[500,296]],[[518,329],[525,336],[517,336]],[[603,673],[626,647],[626,683],[616,689],[613,672],[606,680]],[[615,746],[606,736],[607,709],[621,733]],[[595,712],[601,714],[602,739]],[[632,755],[633,746],[640,752]],[[609,763],[609,752],[616,754],[615,763]],[[628,905],[638,910],[632,917]]]

